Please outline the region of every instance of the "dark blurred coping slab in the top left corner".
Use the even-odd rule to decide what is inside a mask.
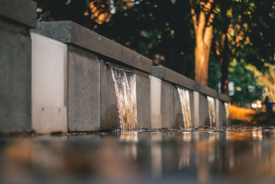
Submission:
[[[36,7],[30,0],[0,0],[0,15],[35,28]]]

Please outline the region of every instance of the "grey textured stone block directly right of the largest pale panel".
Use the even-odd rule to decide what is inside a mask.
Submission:
[[[68,129],[100,128],[100,61],[93,54],[69,48]]]

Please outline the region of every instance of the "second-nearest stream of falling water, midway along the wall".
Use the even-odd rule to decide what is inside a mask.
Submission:
[[[184,119],[184,127],[191,127],[190,97],[188,90],[177,87],[181,101],[181,112]]]

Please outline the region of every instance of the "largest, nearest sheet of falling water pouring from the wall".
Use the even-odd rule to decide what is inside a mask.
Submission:
[[[118,101],[120,127],[123,132],[137,130],[135,73],[113,65],[110,67]]]

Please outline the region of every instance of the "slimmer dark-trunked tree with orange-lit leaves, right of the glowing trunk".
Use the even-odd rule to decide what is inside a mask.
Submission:
[[[274,63],[275,2],[227,0],[219,3],[214,50],[221,66],[221,92],[228,94],[230,60],[251,63],[264,72]]]

